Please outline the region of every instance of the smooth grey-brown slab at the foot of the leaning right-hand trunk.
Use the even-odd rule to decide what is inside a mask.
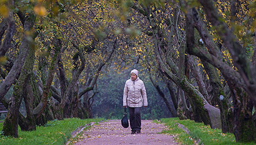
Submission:
[[[221,119],[220,119],[219,109],[217,109],[216,107],[214,107],[210,104],[204,105],[204,108],[205,108],[205,110],[208,111],[208,114],[210,116],[210,120],[211,120],[211,124],[212,124],[211,127],[221,129]]]

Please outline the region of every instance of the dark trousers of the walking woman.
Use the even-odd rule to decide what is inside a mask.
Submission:
[[[141,129],[140,109],[141,107],[129,107],[130,126],[132,131],[138,131]]]

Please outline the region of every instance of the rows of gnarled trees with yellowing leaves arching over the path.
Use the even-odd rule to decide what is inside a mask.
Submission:
[[[117,87],[129,79],[119,74],[137,68],[151,82],[148,92],[156,103],[144,118],[166,115],[159,112],[164,103],[172,116],[215,128],[210,112],[217,111],[222,132],[234,133],[236,141],[256,141],[254,0],[0,0],[0,5],[5,135],[18,137],[18,124],[31,131],[52,119],[98,116],[106,98],[115,100],[108,104],[117,109],[122,106]],[[22,100],[26,116],[19,111]],[[110,112],[105,117],[121,113]]]

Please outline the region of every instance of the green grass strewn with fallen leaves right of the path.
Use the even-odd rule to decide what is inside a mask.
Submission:
[[[169,130],[162,133],[175,135],[175,139],[178,142],[186,145],[193,145],[198,138],[200,138],[204,145],[255,145],[255,143],[236,143],[234,134],[222,133],[219,129],[211,129],[209,125],[205,126],[203,123],[196,123],[195,121],[179,120],[179,118],[162,118],[161,122],[169,127]],[[185,133],[176,123],[180,123],[188,128],[190,134]]]

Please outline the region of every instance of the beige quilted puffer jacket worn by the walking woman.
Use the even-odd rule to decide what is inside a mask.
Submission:
[[[142,107],[148,106],[146,89],[142,80],[137,77],[136,80],[129,79],[125,82],[123,106]]]

